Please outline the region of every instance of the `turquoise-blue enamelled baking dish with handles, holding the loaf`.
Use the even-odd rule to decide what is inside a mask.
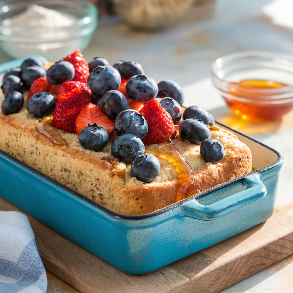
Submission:
[[[0,73],[22,59],[2,64]],[[4,69],[3,69],[4,68]],[[268,219],[282,156],[239,132],[255,171],[150,214],[117,214],[0,150],[0,196],[116,268],[143,274]]]

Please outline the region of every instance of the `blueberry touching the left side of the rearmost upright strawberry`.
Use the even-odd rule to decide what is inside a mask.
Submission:
[[[75,69],[68,61],[59,61],[47,70],[47,80],[50,84],[62,84],[74,78]]]

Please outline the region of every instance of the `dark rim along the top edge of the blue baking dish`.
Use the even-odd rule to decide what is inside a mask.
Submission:
[[[93,200],[90,200],[89,198],[85,197],[84,195],[82,195],[82,194],[72,190],[71,188],[63,185],[62,183],[58,182],[57,180],[54,180],[53,178],[51,178],[51,177],[41,173],[40,171],[34,169],[33,167],[30,167],[29,165],[27,165],[27,164],[23,163],[22,161],[14,158],[13,156],[7,154],[6,152],[0,150],[0,154],[2,154],[7,159],[13,161],[14,163],[20,165],[21,167],[25,168],[26,170],[28,170],[28,171],[34,173],[35,175],[41,177],[42,179],[47,180],[49,183],[51,183],[51,184],[63,189],[64,191],[70,193],[71,195],[74,195],[74,196],[78,197],[81,200],[84,200],[88,204],[90,204],[90,205],[92,205],[94,207],[97,207],[98,209],[102,210],[103,212],[109,214],[110,216],[113,216],[115,218],[125,219],[125,220],[146,219],[146,218],[155,217],[155,216],[158,216],[160,214],[163,214],[163,213],[165,213],[165,212],[167,212],[167,211],[169,211],[171,209],[179,207],[180,205],[182,205],[185,202],[188,202],[188,201],[193,200],[193,199],[198,199],[198,198],[200,198],[202,196],[207,195],[208,193],[212,193],[212,192],[214,192],[216,190],[219,190],[219,189],[221,189],[223,187],[226,187],[226,186],[228,186],[228,185],[230,185],[232,183],[235,183],[237,181],[243,180],[248,175],[259,174],[259,173],[263,173],[265,171],[268,171],[268,170],[274,168],[275,166],[279,165],[283,161],[283,157],[281,156],[281,154],[278,151],[272,149],[271,147],[268,147],[267,145],[262,144],[261,142],[258,142],[257,140],[255,140],[255,139],[253,139],[253,138],[251,138],[251,137],[249,137],[249,136],[247,136],[245,134],[242,134],[241,132],[238,132],[238,131],[230,128],[230,127],[227,127],[226,125],[224,125],[222,123],[219,123],[219,122],[216,122],[216,123],[221,125],[221,126],[223,126],[223,127],[225,127],[225,128],[227,128],[227,129],[229,129],[229,130],[231,130],[231,131],[233,131],[233,132],[235,132],[235,133],[238,133],[238,134],[240,134],[240,135],[252,140],[253,142],[256,142],[256,143],[262,145],[263,147],[266,147],[267,149],[270,149],[275,154],[277,154],[278,159],[274,163],[272,163],[272,164],[270,164],[268,166],[265,166],[263,168],[257,169],[255,171],[250,172],[250,173],[244,174],[244,175],[242,175],[240,177],[237,177],[237,178],[234,178],[234,179],[229,180],[227,182],[224,182],[222,184],[219,184],[219,185],[217,185],[215,187],[212,187],[212,188],[209,188],[207,190],[204,190],[204,191],[202,191],[202,192],[200,192],[200,193],[198,193],[196,195],[193,195],[193,196],[190,196],[188,198],[185,198],[184,200],[180,200],[180,202],[175,202],[172,205],[168,205],[167,207],[164,207],[164,208],[159,209],[157,211],[151,212],[149,214],[143,214],[143,215],[124,215],[124,214],[118,214],[116,212],[113,212],[110,209],[107,209],[106,207],[104,207],[103,205],[100,205],[97,202],[94,202]]]

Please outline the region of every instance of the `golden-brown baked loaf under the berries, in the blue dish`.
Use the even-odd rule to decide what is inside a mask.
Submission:
[[[146,152],[161,153],[161,171],[154,181],[143,183],[130,176],[130,164],[111,156],[115,136],[102,152],[95,152],[81,147],[77,134],[58,130],[67,142],[67,147],[60,147],[37,130],[39,120],[28,114],[26,102],[19,113],[5,116],[0,112],[0,149],[120,214],[147,214],[177,201],[182,182],[162,147],[165,145],[166,150],[171,144],[146,146]],[[179,136],[172,144],[191,166],[198,191],[251,171],[251,152],[236,135],[218,126],[211,128],[211,134],[225,149],[224,159],[218,163],[207,163],[200,155],[200,145],[182,141]]]

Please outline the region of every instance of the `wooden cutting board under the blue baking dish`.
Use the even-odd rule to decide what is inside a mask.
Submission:
[[[21,212],[1,197],[0,210]],[[276,209],[240,234],[154,272],[130,275],[27,216],[45,268],[81,293],[214,293],[293,253],[293,217]]]

